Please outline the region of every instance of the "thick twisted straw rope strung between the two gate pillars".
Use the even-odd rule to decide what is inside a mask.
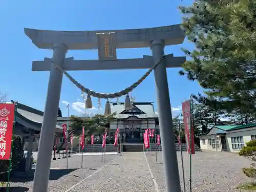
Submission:
[[[88,96],[93,96],[93,97],[97,97],[99,99],[113,99],[113,98],[118,98],[118,97],[121,97],[123,95],[127,95],[128,93],[130,93],[132,90],[134,90],[135,88],[137,88],[139,86],[139,84],[145,80],[145,78],[150,75],[150,73],[159,65],[159,63],[161,62],[161,60],[163,60],[165,57],[165,55],[162,55],[160,58],[159,58],[159,61],[157,63],[155,63],[155,65],[149,69],[138,81],[136,81],[135,83],[133,83],[130,87],[122,90],[122,91],[119,91],[119,92],[116,92],[116,93],[109,93],[109,94],[105,94],[105,93],[98,93],[98,92],[95,92],[93,90],[90,90],[88,88],[85,88],[83,87],[79,82],[77,82],[73,77],[71,77],[71,75],[69,73],[67,73],[66,71],[64,71],[59,65],[57,65],[57,63],[55,63],[53,60],[52,62],[54,63],[54,65],[63,73],[65,74],[69,80],[71,82],[73,82],[75,84],[75,86],[80,89],[82,92],[88,94]]]

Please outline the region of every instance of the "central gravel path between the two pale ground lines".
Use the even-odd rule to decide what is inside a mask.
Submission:
[[[100,172],[74,187],[70,192],[153,192],[151,178],[143,153],[123,153]]]

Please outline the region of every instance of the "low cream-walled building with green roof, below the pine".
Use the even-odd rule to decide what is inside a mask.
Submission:
[[[256,140],[256,123],[216,125],[199,138],[201,150],[239,152],[248,141]]]

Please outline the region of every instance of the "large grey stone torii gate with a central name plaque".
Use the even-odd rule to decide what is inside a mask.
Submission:
[[[50,71],[44,119],[42,121],[34,192],[47,192],[51,166],[52,142],[57,119],[63,73],[65,71],[150,69],[164,54],[164,46],[182,44],[185,35],[180,25],[147,29],[105,31],[47,31],[25,28],[26,35],[40,49],[52,49],[53,57],[33,61],[32,71]],[[117,59],[116,49],[150,47],[153,56]],[[68,50],[98,49],[99,60],[66,58]],[[180,67],[185,57],[166,55],[154,70],[159,126],[162,141],[166,191],[180,192],[180,179],[170,108],[166,68]]]

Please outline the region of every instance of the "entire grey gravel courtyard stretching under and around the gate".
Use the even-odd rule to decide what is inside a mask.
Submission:
[[[146,152],[145,154],[152,174],[156,179],[159,192],[165,192],[161,152],[158,152],[157,162],[155,152]],[[189,156],[186,152],[183,152],[183,155],[186,173],[186,191],[189,191]],[[177,156],[181,186],[183,186],[180,152],[177,152]],[[69,168],[74,170],[61,176],[58,170],[63,169],[60,171],[65,171],[66,159],[52,161],[51,167],[55,173],[51,175],[48,191],[156,191],[154,190],[155,185],[143,153],[123,153],[122,156],[107,155],[105,163],[101,162],[101,156],[84,156],[83,162],[84,168],[81,169],[81,156],[69,158]],[[103,167],[109,162],[111,163]],[[249,159],[229,152],[196,152],[196,155],[193,156],[192,169],[193,192],[240,191],[236,189],[239,183],[249,181],[241,169],[250,166],[250,163],[251,161]],[[90,175],[92,176],[89,177]],[[33,177],[30,179],[33,180]],[[84,181],[81,182],[82,180]],[[26,182],[26,180],[24,180],[24,183],[22,181],[19,183],[12,182],[11,186],[28,187],[30,188],[29,191],[31,191],[32,182]],[[74,185],[76,186],[70,189]],[[70,190],[67,191],[68,189]],[[15,190],[11,191],[19,192],[23,190],[15,188]]]

